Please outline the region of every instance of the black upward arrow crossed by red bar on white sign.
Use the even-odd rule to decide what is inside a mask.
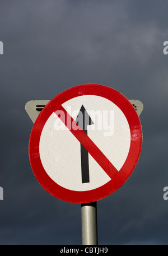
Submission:
[[[76,118],[76,123],[82,128],[87,135],[87,125],[94,124],[88,115],[84,106],[81,106],[80,112]],[[88,151],[81,144],[81,170],[82,170],[82,183],[88,183],[89,180],[89,167],[88,167]]]

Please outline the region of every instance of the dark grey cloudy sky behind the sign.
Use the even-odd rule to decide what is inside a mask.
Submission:
[[[36,180],[29,100],[83,83],[141,100],[143,147],[124,185],[97,202],[99,244],[167,244],[168,3],[160,0],[1,1],[0,244],[81,244],[81,206]]]

